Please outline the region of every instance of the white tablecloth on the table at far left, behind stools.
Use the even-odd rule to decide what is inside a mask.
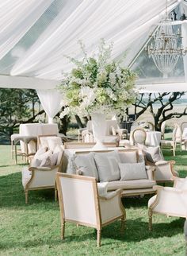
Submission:
[[[22,136],[38,136],[59,134],[59,129],[56,123],[25,123],[20,125],[20,132]],[[29,153],[35,152],[36,146],[34,142],[29,143]],[[21,143],[21,151],[24,152],[24,145]]]

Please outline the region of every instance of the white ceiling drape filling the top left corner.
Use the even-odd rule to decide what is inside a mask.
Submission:
[[[54,0],[4,0],[0,3],[0,59],[13,48]]]

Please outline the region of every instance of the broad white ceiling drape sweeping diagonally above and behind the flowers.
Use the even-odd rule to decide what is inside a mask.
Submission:
[[[145,31],[149,31],[151,25],[155,25],[165,12],[163,1],[153,4],[150,0],[86,0],[78,6],[77,1],[75,2],[76,6],[73,2],[75,8],[69,17],[64,20],[59,13],[48,30],[17,61],[11,75],[36,72],[36,76],[40,78],[62,79],[62,70],[67,71],[72,67],[64,55],[75,54],[77,58],[80,57],[77,44],[79,39],[84,41],[88,52],[95,49],[101,37],[113,41],[115,58]],[[175,2],[170,9],[177,4]]]

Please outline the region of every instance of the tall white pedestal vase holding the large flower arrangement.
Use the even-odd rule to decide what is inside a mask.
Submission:
[[[93,113],[91,114],[91,117],[93,138],[96,141],[96,145],[93,146],[93,149],[106,149],[105,145],[103,144],[106,134],[105,114]]]

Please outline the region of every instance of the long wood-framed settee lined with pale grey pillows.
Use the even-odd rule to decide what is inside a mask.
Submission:
[[[122,196],[155,193],[155,167],[145,166],[138,150],[78,152],[70,174],[93,176],[105,192],[123,189]]]

